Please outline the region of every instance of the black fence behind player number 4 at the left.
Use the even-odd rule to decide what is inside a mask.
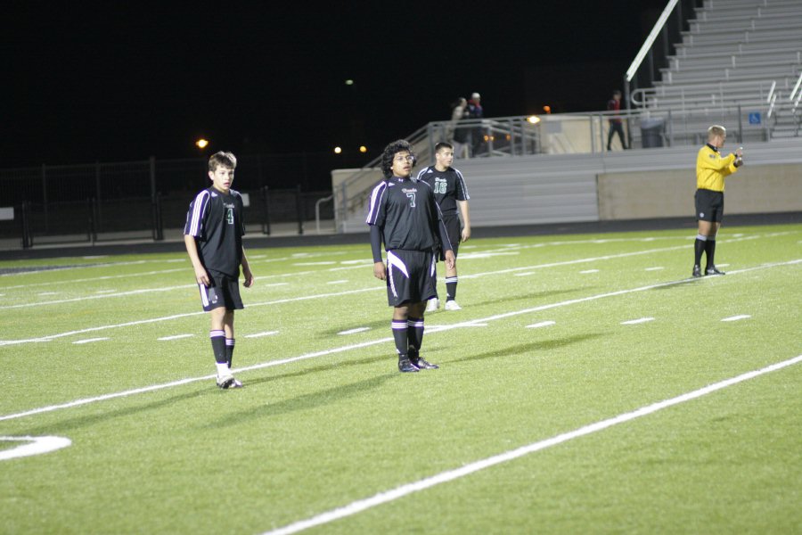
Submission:
[[[249,232],[270,235],[286,223],[307,232],[315,204],[331,195],[307,188],[330,184],[340,163],[314,154],[238,158],[234,189],[247,198]],[[0,170],[0,240],[19,240],[22,248],[163,240],[165,229],[184,228],[192,198],[210,185],[207,173],[206,158]],[[320,218],[334,218],[331,202],[320,204]]]

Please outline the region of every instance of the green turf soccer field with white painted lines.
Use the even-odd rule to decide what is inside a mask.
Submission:
[[[800,533],[802,226],[693,238],[465,243],[418,374],[367,243],[249,250],[235,391],[185,254],[0,262],[0,532]]]

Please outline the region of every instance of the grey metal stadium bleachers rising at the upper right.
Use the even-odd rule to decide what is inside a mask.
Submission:
[[[802,76],[802,2],[707,0],[681,34],[662,79],[634,103],[673,111],[682,124],[669,130],[696,128],[712,108],[737,106],[762,112],[768,139],[799,136],[802,113],[790,95]]]

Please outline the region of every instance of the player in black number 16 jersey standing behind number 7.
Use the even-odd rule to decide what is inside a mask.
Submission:
[[[471,237],[471,217],[468,212],[468,200],[471,197],[468,195],[462,173],[451,167],[452,163],[454,163],[454,147],[447,143],[438,143],[435,145],[435,164],[422,169],[418,173],[418,180],[430,185],[435,194],[435,201],[440,207],[456,259],[460,242],[467,242]],[[457,210],[462,216],[462,229]],[[445,260],[442,255],[438,254],[438,257]],[[462,309],[455,300],[457,282],[456,266],[453,268],[446,266],[446,310]],[[426,305],[426,311],[437,310],[438,306],[438,298],[433,297]]]

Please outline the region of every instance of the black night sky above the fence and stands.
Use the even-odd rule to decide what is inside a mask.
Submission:
[[[487,117],[601,110],[666,3],[12,1],[3,167],[186,158],[200,136],[366,162],[473,91]]]

